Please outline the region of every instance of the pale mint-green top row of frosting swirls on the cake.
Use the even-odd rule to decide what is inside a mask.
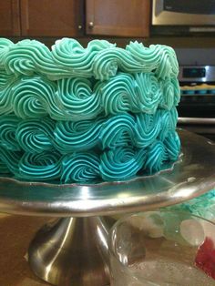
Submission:
[[[101,81],[126,73],[152,72],[158,78],[177,77],[179,65],[169,46],[130,42],[126,48],[105,40],[90,41],[86,48],[76,39],[57,40],[51,50],[36,40],[16,44],[0,38],[0,69],[7,74],[32,76],[34,73],[52,80],[64,77],[95,77]]]

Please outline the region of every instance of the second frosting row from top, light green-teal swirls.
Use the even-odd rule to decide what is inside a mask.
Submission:
[[[1,77],[2,76],[2,77]],[[119,73],[105,82],[87,78],[11,78],[0,74],[0,114],[17,117],[52,117],[78,121],[119,113],[154,114],[179,103],[179,82],[175,77],[158,80],[152,73],[134,76]],[[5,79],[4,79],[5,78]]]

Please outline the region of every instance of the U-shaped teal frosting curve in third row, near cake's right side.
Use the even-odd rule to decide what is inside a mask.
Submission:
[[[160,129],[160,110],[155,115],[138,113],[135,126],[136,146],[148,147],[159,136]]]

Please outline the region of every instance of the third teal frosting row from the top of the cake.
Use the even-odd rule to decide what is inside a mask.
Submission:
[[[55,121],[50,117],[21,119],[0,116],[0,147],[37,154],[56,149],[61,154],[133,146],[146,148],[164,141],[175,130],[177,110],[158,109],[153,114],[120,114],[81,121]]]

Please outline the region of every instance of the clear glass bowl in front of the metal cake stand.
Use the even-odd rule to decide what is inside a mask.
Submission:
[[[110,230],[111,286],[215,285],[215,224],[178,211],[128,216]]]

